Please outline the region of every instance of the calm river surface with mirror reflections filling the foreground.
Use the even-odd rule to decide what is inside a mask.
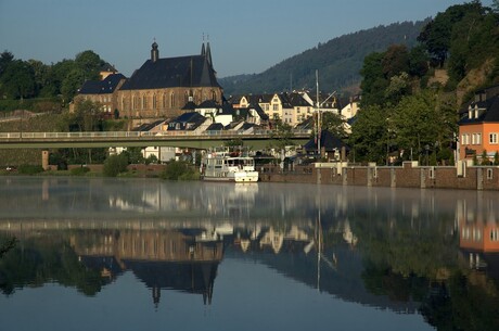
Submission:
[[[0,177],[0,329],[499,330],[498,216],[497,192]]]

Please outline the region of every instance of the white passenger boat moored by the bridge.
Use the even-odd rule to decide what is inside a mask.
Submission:
[[[201,162],[201,175],[204,180],[255,182],[258,171],[255,160],[247,151],[221,148],[207,151]]]

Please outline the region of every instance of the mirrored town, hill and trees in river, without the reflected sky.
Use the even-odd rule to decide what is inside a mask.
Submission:
[[[0,180],[0,244],[18,239],[0,259],[8,295],[56,282],[95,296],[130,271],[156,308],[165,290],[216,305],[220,266],[241,260],[438,329],[499,326],[495,192]]]

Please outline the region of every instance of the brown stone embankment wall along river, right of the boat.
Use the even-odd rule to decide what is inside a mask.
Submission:
[[[406,162],[402,166],[351,166],[345,163],[322,163],[295,166],[292,171],[278,166],[258,168],[260,181],[300,182],[341,186],[499,190],[498,166],[420,166]]]

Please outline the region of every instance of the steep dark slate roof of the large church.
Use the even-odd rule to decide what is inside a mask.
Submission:
[[[133,73],[121,90],[171,87],[220,87],[205,55],[148,60]]]

